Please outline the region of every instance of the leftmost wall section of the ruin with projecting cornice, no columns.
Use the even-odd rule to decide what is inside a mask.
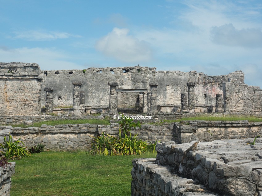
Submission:
[[[41,114],[41,81],[36,63],[0,63],[0,114]]]

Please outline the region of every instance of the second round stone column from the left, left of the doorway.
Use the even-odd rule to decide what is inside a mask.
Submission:
[[[79,81],[73,81],[72,84],[74,85],[74,91],[73,91],[73,109],[75,115],[80,115],[84,112],[84,108],[81,107],[81,85],[83,85],[82,82]]]

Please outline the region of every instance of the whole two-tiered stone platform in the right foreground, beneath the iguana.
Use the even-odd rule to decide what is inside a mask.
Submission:
[[[156,159],[133,160],[132,195],[262,195],[262,138],[158,143]],[[211,192],[208,192],[212,191]]]

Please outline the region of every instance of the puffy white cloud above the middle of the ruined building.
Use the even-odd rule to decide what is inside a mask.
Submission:
[[[122,62],[149,61],[152,52],[148,44],[128,33],[128,29],[114,28],[112,32],[97,41],[96,49]]]

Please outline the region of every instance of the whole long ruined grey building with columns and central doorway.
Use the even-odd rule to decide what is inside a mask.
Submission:
[[[0,63],[0,114],[72,107],[90,112],[261,112],[262,90],[244,73],[207,76],[154,67],[40,71],[36,63]]]

